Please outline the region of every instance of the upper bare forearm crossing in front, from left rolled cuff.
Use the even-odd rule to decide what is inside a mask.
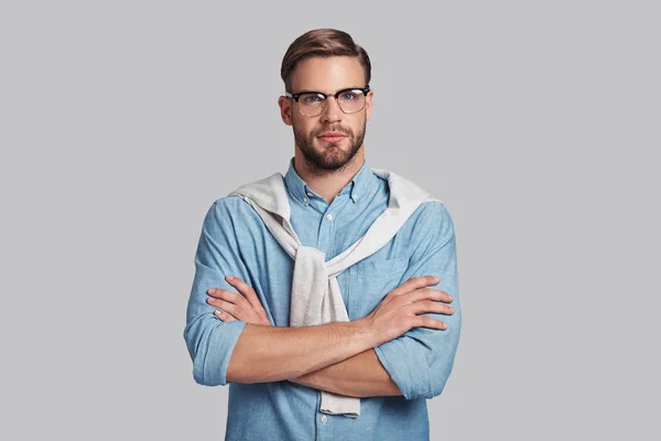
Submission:
[[[293,379],[343,362],[377,344],[362,321],[296,327],[248,323],[229,359],[227,380]]]

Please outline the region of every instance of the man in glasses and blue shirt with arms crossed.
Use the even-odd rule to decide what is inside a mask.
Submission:
[[[459,338],[452,219],[423,198],[391,239],[330,276],[324,259],[378,240],[372,224],[407,203],[394,189],[414,185],[365,161],[371,66],[347,33],[301,35],[281,76],[295,154],[284,176],[250,186],[282,186],[281,201],[269,193],[262,202],[278,207],[237,191],[204,220],[184,331],[194,378],[230,385],[228,440],[426,440],[425,399],[443,390]],[[297,254],[326,271],[321,286]],[[302,311],[300,297],[319,309],[339,303],[335,320]],[[317,324],[299,325],[305,320]]]

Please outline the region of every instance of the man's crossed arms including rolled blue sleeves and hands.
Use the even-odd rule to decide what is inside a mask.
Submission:
[[[235,226],[243,228],[241,225],[246,219],[257,215],[240,198],[226,198],[214,204],[205,218],[196,254],[196,273],[184,330],[195,380],[216,386],[231,381],[288,379],[356,397],[403,395],[407,399],[414,399],[441,394],[454,363],[460,310],[456,297],[452,220],[441,205],[429,208],[423,213],[426,217],[416,219],[416,227],[422,230],[426,223],[427,228],[418,236],[419,244],[413,244],[410,265],[402,278],[408,281],[397,290],[410,284],[413,278],[434,275],[441,279],[441,287],[437,288],[454,297],[454,301],[429,294],[430,291],[442,291],[418,289],[413,292],[416,287],[409,287],[405,291],[411,292],[400,291],[398,294],[403,295],[398,295],[399,300],[389,303],[386,314],[389,316],[378,326],[380,335],[375,336],[375,326],[365,325],[368,318],[318,326],[285,327],[264,322],[259,324],[258,316],[231,320],[229,314],[215,312],[216,308],[224,311],[228,311],[228,308],[227,304],[224,306],[207,301],[214,297],[207,291],[210,287],[220,287],[219,293],[239,295],[234,292],[239,290],[224,276],[234,275],[250,280],[237,239],[246,233],[237,234]],[[243,218],[243,222],[235,223],[232,217]],[[436,283],[427,281],[425,284]],[[423,286],[419,284],[418,288]],[[426,295],[426,300],[424,295],[415,299],[416,304],[424,308],[414,308],[413,300],[403,301],[407,297],[418,294]],[[243,294],[239,298],[245,299]],[[387,303],[386,300],[377,309]],[[440,301],[452,301],[454,313],[437,308]],[[257,311],[260,308],[261,304]],[[438,325],[441,320],[447,323],[446,327]],[[409,325],[404,326],[404,322]],[[395,332],[397,327],[401,329]]]

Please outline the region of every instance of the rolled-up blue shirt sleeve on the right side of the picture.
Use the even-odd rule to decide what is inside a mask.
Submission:
[[[443,391],[452,373],[462,326],[454,224],[441,202],[424,203],[423,207],[413,228],[415,249],[400,284],[413,277],[438,277],[441,282],[427,288],[451,294],[455,313],[425,314],[447,324],[444,331],[413,327],[375,348],[407,399],[433,398]]]

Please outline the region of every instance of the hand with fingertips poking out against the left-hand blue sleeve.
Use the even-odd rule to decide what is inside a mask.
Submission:
[[[252,287],[238,277],[226,276],[225,280],[240,293],[237,294],[236,292],[220,288],[207,290],[207,294],[209,295],[207,303],[221,309],[221,311],[214,311],[214,314],[224,322],[240,320],[246,323],[271,326],[267,311],[264,311]]]

